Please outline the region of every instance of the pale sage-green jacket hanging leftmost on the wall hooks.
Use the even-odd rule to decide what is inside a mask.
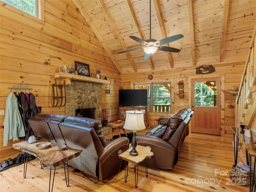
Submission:
[[[7,146],[10,139],[13,138],[13,141],[16,141],[19,137],[24,137],[25,135],[25,129],[18,109],[18,100],[14,93],[10,93],[6,98],[3,146]]]

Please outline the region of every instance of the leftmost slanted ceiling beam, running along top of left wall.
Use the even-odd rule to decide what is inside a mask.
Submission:
[[[109,57],[111,58],[114,65],[116,66],[117,70],[122,74],[122,68],[121,68],[120,64],[117,62],[115,56],[112,54],[112,51],[108,48],[108,44],[106,44],[106,42],[104,41],[104,39],[100,35],[100,32],[97,30],[96,26],[94,25],[94,23],[90,19],[90,16],[88,15],[86,10],[82,6],[81,2],[79,0],[73,0],[73,2],[76,5],[76,7],[80,10],[81,15],[83,16],[83,18],[86,20],[87,24],[90,26],[90,28],[94,32],[97,39],[100,41],[102,47],[108,53]]]

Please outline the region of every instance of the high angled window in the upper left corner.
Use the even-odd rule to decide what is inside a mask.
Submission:
[[[36,18],[41,18],[41,0],[2,0],[3,2],[22,10]]]

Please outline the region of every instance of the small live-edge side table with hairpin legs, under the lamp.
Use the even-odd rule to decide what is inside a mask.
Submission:
[[[136,150],[138,151],[137,156],[131,156],[130,151],[132,150],[132,147],[123,152],[122,154],[118,155],[120,159],[125,160],[127,162],[127,165],[125,164],[124,169],[124,182],[127,182],[127,176],[128,176],[128,162],[134,163],[134,174],[135,174],[135,188],[138,186],[138,167],[140,162],[145,160],[145,169],[146,169],[146,177],[148,176],[148,158],[152,158],[154,156],[154,153],[151,152],[151,148],[144,147],[141,145],[137,145]],[[136,170],[137,168],[137,170]],[[137,172],[137,173],[136,173]]]

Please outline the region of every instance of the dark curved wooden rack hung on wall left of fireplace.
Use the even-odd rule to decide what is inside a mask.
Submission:
[[[58,96],[58,88],[60,88],[60,96]],[[63,88],[64,88],[64,94],[63,94]],[[65,85],[65,80],[63,84],[57,85],[56,79],[55,79],[55,84],[52,84],[52,93],[53,93],[53,107],[58,106],[58,101],[60,99],[60,105],[59,106],[65,106],[66,105],[66,85]],[[56,100],[56,104],[55,104]],[[63,101],[65,100],[65,102]],[[64,102],[64,104],[62,104]]]

